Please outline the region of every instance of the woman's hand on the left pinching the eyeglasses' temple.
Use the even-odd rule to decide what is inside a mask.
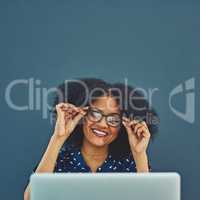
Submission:
[[[57,121],[54,135],[67,139],[81,118],[86,114],[86,109],[87,107],[80,108],[69,103],[56,105]]]

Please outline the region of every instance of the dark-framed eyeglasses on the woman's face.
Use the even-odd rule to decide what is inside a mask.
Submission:
[[[119,127],[122,122],[122,116],[118,113],[111,113],[108,115],[103,114],[103,112],[97,108],[90,107],[87,111],[87,117],[92,122],[100,122],[103,117],[106,119],[106,123],[112,127]]]

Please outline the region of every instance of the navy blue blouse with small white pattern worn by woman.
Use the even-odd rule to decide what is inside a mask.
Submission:
[[[54,172],[91,172],[78,147],[63,147],[58,155]],[[132,154],[122,160],[116,160],[108,154],[104,163],[96,172],[136,172]]]

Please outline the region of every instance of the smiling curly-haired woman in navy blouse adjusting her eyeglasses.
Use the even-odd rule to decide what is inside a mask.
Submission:
[[[67,82],[67,89],[61,84],[54,101],[54,134],[35,172],[149,172],[147,147],[158,130],[157,115],[133,91],[94,78]],[[129,94],[135,98],[127,102]],[[154,120],[147,122],[149,114]]]

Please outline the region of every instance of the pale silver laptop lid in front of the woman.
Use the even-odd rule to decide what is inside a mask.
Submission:
[[[177,173],[33,174],[31,200],[180,200]]]

